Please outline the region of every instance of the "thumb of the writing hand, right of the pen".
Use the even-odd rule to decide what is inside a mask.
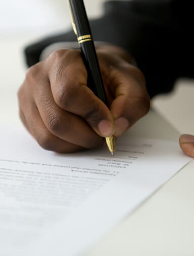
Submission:
[[[120,136],[150,109],[150,98],[136,67],[112,70],[112,84],[115,100],[111,104],[111,113],[115,120],[115,135]]]

